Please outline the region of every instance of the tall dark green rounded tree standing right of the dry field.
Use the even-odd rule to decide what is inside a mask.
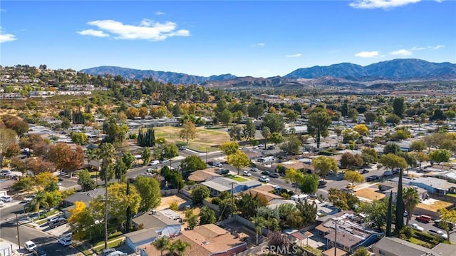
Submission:
[[[320,137],[328,135],[328,127],[331,125],[331,117],[323,108],[314,108],[309,115],[308,130],[316,138],[316,147],[320,148]]]

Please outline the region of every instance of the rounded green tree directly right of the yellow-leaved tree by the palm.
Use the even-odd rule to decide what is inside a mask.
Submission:
[[[135,188],[141,198],[139,212],[145,212],[160,205],[162,200],[160,184],[155,178],[140,175],[135,179]]]

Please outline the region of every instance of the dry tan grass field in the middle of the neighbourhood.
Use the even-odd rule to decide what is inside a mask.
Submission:
[[[179,138],[180,127],[156,127],[154,130],[155,138],[163,137],[170,143],[187,143],[187,141]],[[199,152],[206,152],[206,150],[211,152],[219,150],[219,145],[225,141],[229,141],[229,135],[226,131],[197,127],[197,138],[190,140],[186,147]]]

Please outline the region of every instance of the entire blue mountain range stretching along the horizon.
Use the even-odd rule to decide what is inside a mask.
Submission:
[[[128,79],[152,78],[155,81],[174,84],[200,84],[207,87],[296,87],[309,83],[328,86],[356,86],[367,81],[430,81],[456,79],[456,64],[432,63],[416,58],[398,58],[368,66],[353,63],[338,63],[331,66],[299,68],[286,76],[254,78],[237,77],[232,74],[218,76],[192,76],[167,71],[138,70],[117,66],[87,68],[81,72],[92,75],[120,75]]]

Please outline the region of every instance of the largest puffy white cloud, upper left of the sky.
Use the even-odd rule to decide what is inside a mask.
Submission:
[[[176,30],[177,25],[171,21],[159,23],[149,19],[143,19],[139,26],[134,26],[107,19],[89,21],[87,24],[96,26],[103,32],[103,35],[112,35],[115,39],[162,41],[171,36],[190,36],[190,31],[186,29]],[[95,30],[88,29],[86,31],[93,32]],[[80,32],[78,33],[81,34]],[[93,34],[87,35],[94,36]],[[97,35],[99,36],[100,32]]]

